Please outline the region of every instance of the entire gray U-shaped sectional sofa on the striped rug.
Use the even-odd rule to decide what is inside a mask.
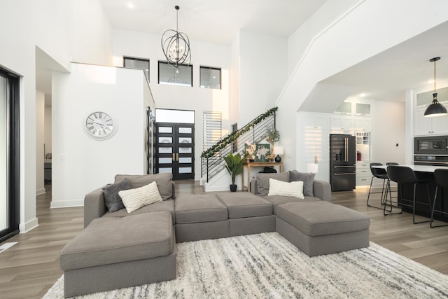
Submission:
[[[269,195],[269,179],[304,181],[304,198]],[[152,181],[162,201],[120,209],[117,188]],[[85,230],[59,254],[64,295],[175,279],[176,242],[277,231],[309,256],[368,246],[370,219],[331,204],[330,184],[311,174],[258,174],[251,193],[176,195],[174,187],[171,174],[117,175],[85,195]]]

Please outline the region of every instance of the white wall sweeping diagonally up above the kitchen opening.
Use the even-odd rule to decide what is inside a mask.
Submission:
[[[307,55],[293,71],[277,101],[281,143],[295,153],[300,148],[295,148],[295,132],[289,128],[295,126],[295,111],[316,83],[448,20],[446,1],[432,1],[431,6],[416,0],[367,0],[357,4],[336,22],[328,20],[332,25],[309,41]],[[316,105],[323,104],[316,99]],[[295,156],[284,159],[286,169],[297,167]]]

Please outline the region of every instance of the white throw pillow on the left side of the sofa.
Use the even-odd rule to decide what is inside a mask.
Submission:
[[[162,201],[155,181],[140,188],[121,190],[118,195],[120,195],[128,213],[132,213],[148,204]]]

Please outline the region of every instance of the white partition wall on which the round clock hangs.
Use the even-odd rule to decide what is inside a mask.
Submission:
[[[53,75],[51,207],[82,206],[86,193],[116,174],[145,173],[144,84],[142,71],[89,64]],[[110,139],[87,136],[85,118],[94,111],[118,120]]]

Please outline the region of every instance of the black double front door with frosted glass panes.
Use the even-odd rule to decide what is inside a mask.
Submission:
[[[195,178],[195,125],[155,123],[155,173]]]

